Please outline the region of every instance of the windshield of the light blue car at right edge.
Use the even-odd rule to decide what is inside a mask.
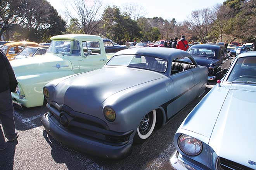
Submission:
[[[256,57],[237,59],[227,82],[256,84]]]

